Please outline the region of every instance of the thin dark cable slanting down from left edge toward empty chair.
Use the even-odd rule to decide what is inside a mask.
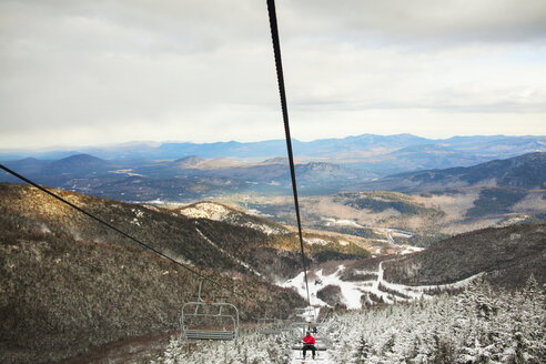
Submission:
[[[125,232],[121,231],[120,229],[118,229],[118,228],[115,228],[115,226],[113,226],[113,225],[109,224],[108,222],[103,221],[102,219],[97,218],[95,215],[91,214],[90,212],[87,212],[85,210],[83,210],[83,209],[81,209],[81,208],[79,208],[79,206],[74,205],[73,203],[71,203],[71,202],[69,202],[69,201],[64,200],[63,198],[61,198],[60,195],[58,195],[58,194],[55,194],[55,193],[53,193],[53,192],[51,192],[51,191],[48,191],[48,190],[47,190],[47,189],[44,189],[43,186],[41,186],[41,185],[39,185],[39,184],[37,184],[37,183],[32,182],[31,180],[29,180],[29,179],[27,179],[27,178],[22,176],[21,174],[17,173],[17,172],[14,172],[14,171],[12,171],[12,170],[10,170],[9,168],[4,166],[3,164],[0,164],[0,169],[2,169],[2,170],[4,170],[6,172],[8,172],[8,173],[10,173],[10,174],[12,174],[12,175],[14,175],[14,176],[17,176],[17,178],[18,178],[18,179],[20,179],[20,180],[22,180],[22,181],[27,182],[28,184],[33,185],[34,188],[39,189],[40,191],[46,192],[47,194],[49,194],[49,195],[51,195],[52,198],[54,198],[54,199],[57,199],[57,200],[61,201],[62,203],[68,204],[68,205],[69,205],[69,206],[71,206],[72,209],[74,209],[74,210],[77,210],[77,211],[81,212],[82,214],[84,214],[84,215],[87,215],[87,216],[89,216],[89,218],[91,218],[91,219],[93,219],[93,220],[98,221],[99,223],[101,223],[101,224],[103,224],[103,225],[108,226],[109,229],[114,230],[114,231],[115,231],[115,232],[118,232],[119,234],[121,234],[121,235],[123,235],[123,236],[125,236],[125,237],[128,237],[128,239],[132,240],[133,242],[138,243],[138,244],[139,244],[139,245],[141,245],[141,246],[144,246],[145,249],[148,249],[148,250],[152,251],[152,252],[153,252],[153,253],[155,253],[156,255],[159,255],[159,256],[161,256],[161,257],[164,257],[164,259],[166,259],[166,260],[169,260],[169,261],[173,262],[173,263],[174,263],[174,264],[176,264],[176,265],[182,266],[184,270],[189,271],[189,272],[190,272],[190,273],[192,273],[192,274],[195,274],[195,275],[196,275],[196,276],[199,276],[200,279],[205,280],[205,281],[209,281],[209,282],[211,282],[212,284],[214,284],[214,285],[216,285],[216,286],[219,286],[219,287],[221,287],[221,289],[226,290],[228,292],[233,292],[233,294],[235,294],[235,295],[237,295],[237,296],[240,296],[240,297],[242,297],[242,299],[246,299],[246,300],[249,299],[249,297],[246,297],[245,295],[242,295],[242,294],[240,294],[240,293],[235,292],[234,290],[232,290],[232,289],[230,289],[230,287],[228,287],[228,286],[225,286],[225,285],[223,285],[223,284],[218,283],[216,281],[214,281],[214,280],[212,280],[212,279],[208,277],[206,275],[203,275],[203,274],[199,273],[198,271],[195,271],[195,270],[191,269],[190,266],[188,266],[188,265],[185,265],[185,264],[183,264],[183,263],[180,263],[180,262],[175,261],[174,259],[170,257],[169,255],[165,255],[164,253],[162,253],[162,252],[160,252],[160,251],[155,250],[154,247],[152,247],[152,246],[148,245],[146,243],[141,242],[141,241],[140,241],[140,240],[138,240],[136,237],[133,237],[133,236],[129,235],[128,233],[125,233]]]

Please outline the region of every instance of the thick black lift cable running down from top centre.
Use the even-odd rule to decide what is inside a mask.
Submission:
[[[295,169],[294,169],[294,155],[292,153],[292,139],[290,136],[290,124],[289,124],[289,108],[286,105],[286,92],[284,90],[284,75],[283,75],[283,64],[281,60],[281,43],[279,40],[279,28],[276,22],[276,11],[275,11],[275,1],[267,0],[267,12],[270,16],[270,29],[271,29],[271,38],[273,40],[273,52],[275,54],[275,68],[276,68],[276,78],[279,83],[279,93],[281,95],[281,107],[283,112],[283,121],[284,121],[284,133],[286,138],[286,149],[289,151],[289,162],[290,162],[290,174],[292,176],[292,191],[294,194],[294,205],[296,212],[297,220],[297,232],[300,234],[300,247],[302,251],[302,266],[303,274],[305,279],[305,290],[307,292],[307,304],[311,306],[311,297],[309,294],[309,283],[307,283],[307,269],[305,264],[305,253],[303,249],[303,234],[302,234],[302,222],[300,218],[300,203],[297,201],[297,186],[295,179]]]

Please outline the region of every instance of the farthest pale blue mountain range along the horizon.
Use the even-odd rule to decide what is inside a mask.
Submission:
[[[301,162],[327,162],[373,172],[376,176],[424,169],[469,166],[494,159],[546,151],[546,136],[454,136],[444,140],[412,134],[363,134],[312,142],[293,140],[294,155]],[[151,161],[174,161],[191,155],[203,159],[234,159],[256,162],[286,155],[284,140],[218,143],[127,143],[108,148],[73,150],[0,151],[0,161],[36,158],[60,160],[90,154],[118,164],[144,165]]]

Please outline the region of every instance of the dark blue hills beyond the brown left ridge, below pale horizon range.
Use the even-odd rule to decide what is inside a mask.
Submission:
[[[37,183],[124,201],[188,201],[230,193],[291,193],[287,159],[239,162],[226,158],[205,160],[191,155],[175,161],[124,164],[89,154],[59,161],[24,159],[7,163]],[[303,194],[332,193],[365,180],[361,170],[325,162],[295,165]],[[0,172],[0,180],[18,182]]]

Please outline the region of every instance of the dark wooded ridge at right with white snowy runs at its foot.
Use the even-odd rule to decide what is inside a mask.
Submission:
[[[482,275],[507,289],[522,286],[532,273],[544,284],[545,232],[544,224],[485,229],[406,255],[315,265],[307,274],[312,303],[360,309],[426,299]],[[279,284],[306,299],[303,273]]]

